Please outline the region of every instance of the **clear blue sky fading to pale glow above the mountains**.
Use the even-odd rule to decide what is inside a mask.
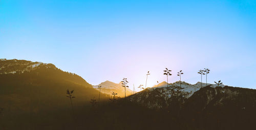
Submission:
[[[256,89],[256,1],[0,1],[0,58],[53,63],[93,85],[208,82]],[[205,82],[205,76],[203,77]]]

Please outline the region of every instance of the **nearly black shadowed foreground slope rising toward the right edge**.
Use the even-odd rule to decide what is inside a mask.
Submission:
[[[148,91],[134,98],[142,98]],[[90,120],[81,119],[79,124],[89,129],[255,129],[256,90],[205,86],[188,98],[170,97],[168,106],[150,109],[152,101],[156,105],[165,100],[154,94],[139,100],[142,102],[129,97],[102,105],[86,115]]]

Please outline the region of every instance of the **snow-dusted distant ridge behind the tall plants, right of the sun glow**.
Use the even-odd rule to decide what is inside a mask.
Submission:
[[[129,97],[130,101],[138,102],[141,104],[145,104],[149,108],[157,108],[160,109],[162,107],[169,105],[169,100],[172,98],[172,88],[174,86],[180,86],[183,88],[181,90],[181,94],[185,99],[191,97],[195,92],[201,89],[201,82],[197,82],[196,84],[190,84],[187,82],[180,81],[169,83],[167,89],[167,83],[165,81],[159,83],[159,86],[154,85],[153,88],[146,88],[145,90],[138,92]],[[202,83],[203,88],[205,88],[206,83]],[[211,86],[211,88],[216,88],[217,84],[209,84],[207,86]],[[225,85],[221,84],[221,87]]]

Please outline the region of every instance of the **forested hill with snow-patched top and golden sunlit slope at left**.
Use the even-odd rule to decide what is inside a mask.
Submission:
[[[0,129],[66,126],[72,119],[67,89],[74,90],[75,110],[98,98],[91,84],[53,64],[13,59],[1,60],[0,68]],[[106,95],[101,97],[104,100]]]

